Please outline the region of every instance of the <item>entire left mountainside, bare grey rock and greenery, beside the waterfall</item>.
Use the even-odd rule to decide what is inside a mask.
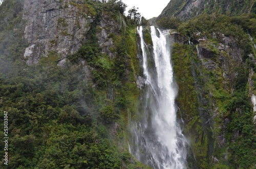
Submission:
[[[125,137],[140,70],[124,8],[117,1],[3,2],[0,126],[6,111],[9,139],[1,168],[149,168],[132,157]]]

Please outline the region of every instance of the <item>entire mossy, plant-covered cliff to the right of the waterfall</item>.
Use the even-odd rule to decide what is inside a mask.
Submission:
[[[158,23],[177,31],[171,31],[177,41],[172,60],[179,86],[178,115],[194,154],[189,166],[254,168],[256,132],[250,98],[255,88],[249,79],[255,49],[247,33],[255,37],[254,15],[203,14],[185,22],[170,19],[169,26]]]

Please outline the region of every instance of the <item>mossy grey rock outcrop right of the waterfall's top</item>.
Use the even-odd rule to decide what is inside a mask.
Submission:
[[[238,45],[237,39],[214,32],[212,38],[221,40],[216,45],[211,43],[211,40],[207,37],[201,37],[200,34],[200,32],[195,33],[190,40],[193,45],[197,45],[197,55],[202,61],[203,67],[206,70],[214,70],[220,67],[223,70],[222,76],[232,86],[234,79],[237,77],[234,67],[238,67],[242,63],[242,49]],[[189,44],[189,37],[182,36],[175,31],[170,31],[170,35],[174,42]],[[226,84],[227,81],[223,81],[223,83]]]

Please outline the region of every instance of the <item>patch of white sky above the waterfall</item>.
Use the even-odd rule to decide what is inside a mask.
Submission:
[[[167,6],[170,0],[122,0],[124,4],[128,7],[126,8],[125,13],[135,6],[140,12],[141,16],[144,16],[146,19],[157,17]]]

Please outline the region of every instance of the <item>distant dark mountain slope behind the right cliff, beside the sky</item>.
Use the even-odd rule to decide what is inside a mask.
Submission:
[[[171,0],[158,16],[158,19],[175,16],[181,20],[187,20],[202,13],[237,16],[242,13],[254,13],[255,9],[255,0]]]

